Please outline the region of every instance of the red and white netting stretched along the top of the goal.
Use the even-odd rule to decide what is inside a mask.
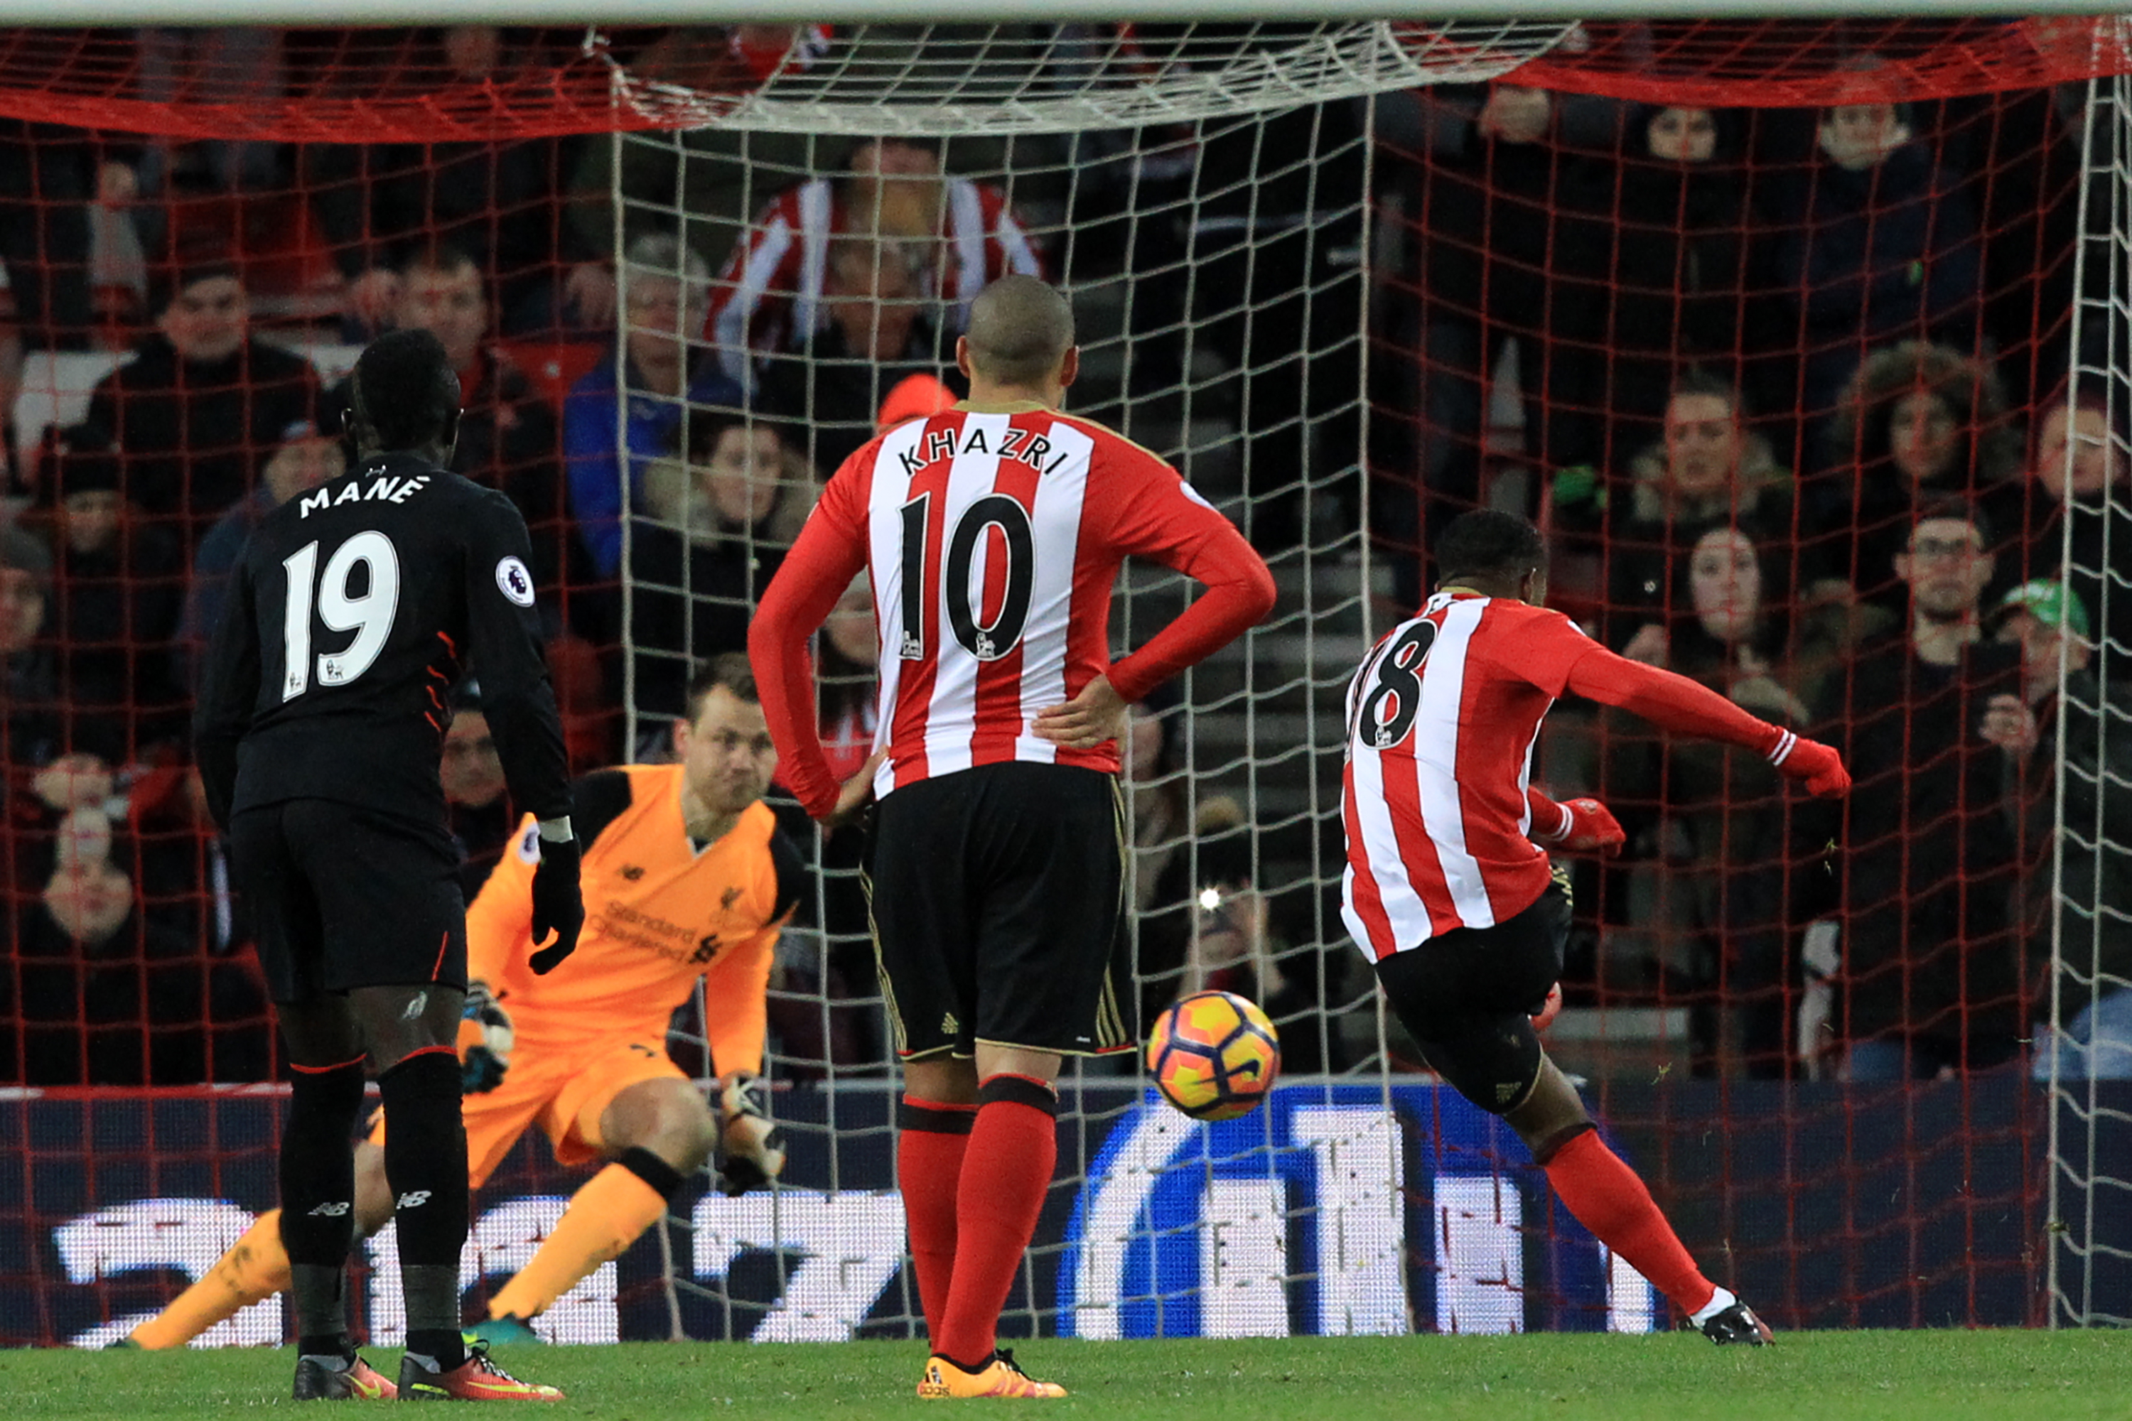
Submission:
[[[742,26],[740,30],[748,30]],[[800,26],[727,45],[706,32],[680,70],[637,70],[629,30],[505,32],[503,47],[454,49],[437,30],[286,30],[262,66],[258,30],[4,30],[0,115],[194,138],[469,141],[603,130],[761,126],[761,104],[887,109],[998,107],[981,126],[1070,128],[1072,115],[1141,117],[1237,100],[1232,75],[1288,102],[1471,81],[1520,83],[1657,104],[1791,107],[1872,94],[1949,98],[2132,68],[2121,17],[1712,19],[1484,26],[1328,21],[1281,26]],[[495,34],[495,32],[490,32]],[[923,49],[923,66],[910,55]],[[1094,53],[1094,64],[1089,64]],[[953,58],[951,64],[942,55]],[[1533,58],[1537,55],[1537,58]],[[1861,60],[1872,55],[1872,60]],[[1032,60],[1036,62],[1032,66]],[[1520,68],[1522,64],[1522,68]],[[1870,68],[1861,68],[1870,64]],[[1030,117],[1030,104],[1057,119]],[[1209,94],[1213,98],[1209,98]],[[676,98],[714,102],[672,102]],[[785,115],[772,126],[793,128]]]

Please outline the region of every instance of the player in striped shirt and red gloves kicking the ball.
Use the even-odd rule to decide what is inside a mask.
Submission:
[[[1541,607],[1546,548],[1522,518],[1452,520],[1437,571],[1437,592],[1371,648],[1347,688],[1347,931],[1428,1065],[1518,1131],[1578,1223],[1706,1338],[1761,1346],[1770,1327],[1695,1268],[1539,1048],[1533,1014],[1569,935],[1567,876],[1539,844],[1612,852],[1622,833],[1599,801],[1558,805],[1527,788],[1527,773],[1539,722],[1569,690],[1757,750],[1814,795],[1844,795],[1851,775],[1827,746],[1616,656]]]

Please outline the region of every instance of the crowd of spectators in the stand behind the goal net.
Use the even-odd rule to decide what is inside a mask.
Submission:
[[[179,75],[245,43],[266,47],[260,83],[333,83],[273,32],[141,38]],[[542,36],[411,43],[510,83]],[[646,77],[718,87],[834,34],[623,45]],[[1755,756],[1565,707],[1541,775],[1629,831],[1622,861],[1576,869],[1571,1006],[1689,1006],[1706,1074],[1917,1078],[2053,1050],[2132,1074],[2123,997],[2025,1048],[2053,925],[2087,942],[2132,910],[2121,856],[2068,854],[2053,893],[2049,852],[2060,788],[2132,842],[2126,735],[2098,729],[2132,714],[2132,588],[2109,571],[2132,539],[2126,398],[2066,386],[2081,117],[2051,92],[1891,104],[1861,62],[1855,102],[1812,113],[1437,87],[1379,100],[1369,128],[1339,102],[1083,134],[1085,162],[1028,173],[1000,145],[902,136],[139,143],[9,121],[0,1080],[275,1072],[183,726],[247,528],[343,469],[345,362],[305,349],[420,328],[450,352],[456,469],[533,530],[582,773],[669,754],[691,669],[744,650],[821,481],[876,422],[955,398],[953,339],[1004,273],[1124,273],[1117,403],[1241,375],[1217,377],[1249,441],[1239,522],[1269,560],[1367,501],[1405,616],[1431,528],[1522,501],[1595,637],[1844,750],[1857,793],[1808,807]],[[1362,190],[1364,158],[1369,234],[1360,205],[1320,211]],[[1509,345],[1518,430],[1488,415]],[[94,349],[113,369],[85,403],[17,422],[49,407],[28,356]],[[823,635],[840,769],[872,735],[868,614],[861,584]],[[471,899],[516,814],[478,686],[454,709]],[[1177,703],[1134,707],[1143,1008],[1234,984],[1290,1029],[1288,1069],[1352,1065],[1328,1020],[1352,948],[1315,942],[1320,903],[1254,882],[1251,827],[1192,793],[1185,746]],[[774,1057],[878,1069],[859,850],[844,833],[814,854],[821,891],[772,971]]]

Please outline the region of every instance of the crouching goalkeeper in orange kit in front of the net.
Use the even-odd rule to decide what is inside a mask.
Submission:
[[[674,724],[678,765],[627,765],[576,786],[586,925],[578,954],[537,978],[527,967],[539,861],[533,820],[467,910],[467,1174],[480,1189],[518,1136],[539,1125],[565,1165],[608,1161],[471,1332],[535,1340],[529,1321],[661,1219],[716,1146],[718,1185],[740,1193],[785,1165],[759,1095],[763,993],[778,927],[797,901],[800,854],[761,801],[776,750],[748,658],[710,660]],[[723,1129],[665,1052],[667,1018],[697,978],[721,1072]],[[356,1227],[392,1216],[382,1114],[356,1150]],[[132,1332],[181,1346],[290,1283],[279,1210],[158,1317]]]

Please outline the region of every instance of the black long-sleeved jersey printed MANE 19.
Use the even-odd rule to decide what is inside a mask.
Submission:
[[[260,520],[194,716],[217,822],[333,799],[443,824],[437,763],[465,671],[518,807],[569,814],[531,556],[510,499],[411,454],[367,458]]]

